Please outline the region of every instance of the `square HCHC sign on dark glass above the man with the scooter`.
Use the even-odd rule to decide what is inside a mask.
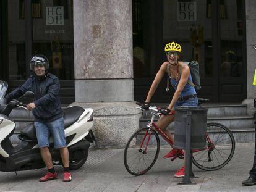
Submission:
[[[64,7],[45,7],[46,25],[64,25]]]

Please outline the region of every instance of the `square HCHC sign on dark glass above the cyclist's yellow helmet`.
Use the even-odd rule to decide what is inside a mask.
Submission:
[[[190,22],[197,20],[197,2],[177,2],[177,21]]]

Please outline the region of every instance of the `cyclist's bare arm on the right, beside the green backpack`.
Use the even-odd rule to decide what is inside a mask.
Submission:
[[[184,65],[182,69],[181,80],[179,80],[177,90],[175,91],[173,98],[171,99],[171,103],[169,104],[168,109],[173,109],[174,104],[177,102],[177,99],[181,95],[181,92],[183,91],[184,86],[186,85],[187,80],[189,79],[189,73],[189,66]]]

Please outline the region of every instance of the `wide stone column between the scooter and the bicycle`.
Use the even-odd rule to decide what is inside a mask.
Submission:
[[[75,103],[95,111],[98,147],[139,129],[132,66],[132,1],[74,1]]]

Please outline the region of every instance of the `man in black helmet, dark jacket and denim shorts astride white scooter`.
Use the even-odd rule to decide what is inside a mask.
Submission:
[[[58,178],[49,152],[49,135],[54,138],[54,148],[58,148],[64,166],[64,182],[72,180],[69,172],[69,151],[67,149],[64,133],[64,119],[59,99],[59,79],[48,73],[49,62],[46,56],[36,54],[30,60],[30,70],[33,75],[28,77],[23,85],[6,95],[6,99],[19,98],[26,91],[35,93],[35,102],[27,105],[27,109],[35,116],[36,138],[38,147],[48,172],[40,178],[40,182],[46,182]]]

